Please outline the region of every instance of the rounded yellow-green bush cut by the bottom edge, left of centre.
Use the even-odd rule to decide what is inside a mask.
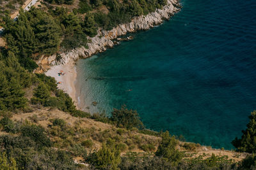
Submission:
[[[120,151],[113,145],[103,143],[98,152],[93,152],[88,162],[97,169],[117,169],[120,163]]]

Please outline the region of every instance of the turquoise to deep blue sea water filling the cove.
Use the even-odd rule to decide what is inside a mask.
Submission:
[[[163,25],[79,60],[80,98],[91,112],[127,104],[149,129],[230,149],[256,110],[256,1],[182,5]]]

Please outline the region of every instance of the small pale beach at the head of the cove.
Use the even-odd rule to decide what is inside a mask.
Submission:
[[[60,75],[58,73],[63,73]],[[69,62],[68,64],[52,66],[46,73],[47,76],[52,76],[56,79],[58,88],[67,92],[69,96],[73,99],[74,104],[77,106],[77,97],[76,97],[76,63]]]

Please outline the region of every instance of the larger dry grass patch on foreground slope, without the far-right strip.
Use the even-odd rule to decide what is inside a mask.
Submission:
[[[132,148],[130,150],[132,152],[143,152],[140,145],[151,143],[158,146],[161,141],[161,138],[157,138],[155,136],[140,134],[136,131],[131,132],[125,129],[117,129],[113,125],[97,122],[90,118],[72,117],[68,113],[56,109],[51,110],[51,108],[34,108],[34,111],[31,113],[13,115],[12,120],[24,121],[28,119],[31,120],[31,122],[42,125],[42,127],[48,129],[49,132],[52,132],[57,130],[49,129],[48,125],[51,124],[51,119],[54,118],[61,118],[65,120],[65,122],[67,122],[67,127],[74,129],[74,136],[68,136],[68,139],[76,141],[76,143],[81,143],[86,139],[91,139],[93,146],[92,148],[88,148],[89,152],[101,148],[102,142],[106,141],[108,138],[115,139],[118,143],[125,143],[127,146],[123,153],[129,151],[129,148]],[[62,139],[52,136],[52,140],[60,142]],[[134,145],[134,147],[129,147],[131,145]]]

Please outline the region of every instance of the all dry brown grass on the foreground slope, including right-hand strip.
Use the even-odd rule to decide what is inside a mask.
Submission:
[[[108,138],[115,139],[117,143],[123,143],[126,146],[125,150],[122,154],[132,151],[132,152],[144,152],[141,150],[142,145],[152,144],[156,147],[159,145],[161,138],[157,138],[156,136],[149,136],[145,134],[140,134],[136,129],[134,131],[127,131],[126,129],[118,129],[113,125],[104,124],[102,122],[97,122],[90,118],[76,118],[72,117],[70,114],[65,113],[60,110],[51,109],[51,108],[34,108],[34,111],[31,113],[21,113],[15,114],[12,117],[12,120],[15,121],[24,121],[25,119],[30,120],[36,124],[42,125],[47,131],[51,134],[52,132],[60,133],[60,129],[49,129],[49,125],[51,125],[51,120],[54,118],[61,118],[65,120],[67,123],[67,131],[72,129],[73,134],[67,136],[67,140],[63,140],[60,136],[51,136],[52,141],[56,141],[56,143],[65,143],[67,141],[71,141],[74,143],[82,143],[85,140],[92,140],[93,146],[90,148],[86,148],[88,153],[93,150],[99,150],[103,141],[106,141]],[[236,153],[229,150],[220,150],[214,149],[210,146],[200,146],[193,145],[192,149],[184,148],[184,142],[179,142],[179,146],[177,148],[180,151],[184,151],[190,155],[189,157],[198,157],[200,155],[204,155],[204,158],[210,157],[212,153],[220,156],[228,156],[228,159],[233,159],[234,161],[240,161],[244,157],[246,157],[246,153]],[[65,145],[60,145],[61,148],[65,148]],[[156,149],[154,151],[156,151]]]

